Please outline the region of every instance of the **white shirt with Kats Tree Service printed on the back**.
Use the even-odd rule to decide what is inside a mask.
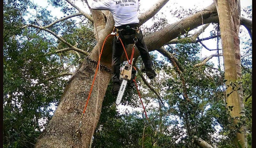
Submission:
[[[138,0],[104,0],[103,2],[87,0],[87,2],[91,9],[109,10],[112,12],[116,27],[130,23],[139,23]]]

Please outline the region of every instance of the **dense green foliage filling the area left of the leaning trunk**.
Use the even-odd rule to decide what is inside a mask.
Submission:
[[[31,9],[35,8],[37,12],[33,16]],[[30,0],[5,1],[3,20],[4,148],[34,147],[37,137],[52,118],[67,84],[64,78],[50,78],[60,73],[70,73],[69,68],[79,64],[77,62],[79,58],[74,52],[55,54],[56,46],[58,46],[55,37],[33,28],[20,28],[27,23],[38,26],[40,23],[48,25],[53,22],[53,19],[47,9],[36,6]],[[82,43],[81,48],[91,49],[95,44],[91,28],[78,28],[74,25],[74,20],[55,24],[50,29],[61,33],[71,43],[75,44],[75,41]],[[88,41],[91,44],[84,44]]]

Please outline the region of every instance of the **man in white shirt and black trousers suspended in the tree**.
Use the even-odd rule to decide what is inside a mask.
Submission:
[[[138,29],[138,0],[104,0],[103,2],[87,0],[87,2],[91,9],[109,10],[112,13],[115,21],[115,29],[120,30],[119,36],[121,40],[125,45],[135,43],[145,65],[147,76],[150,79],[155,78],[156,72],[152,69],[152,62],[147,46],[144,42],[141,30]],[[112,47],[112,94],[117,95],[120,89],[120,64],[124,49],[116,36],[112,42]]]

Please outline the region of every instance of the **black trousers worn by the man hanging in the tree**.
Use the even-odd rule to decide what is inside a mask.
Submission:
[[[132,26],[132,25],[129,25]],[[128,44],[134,44],[133,36],[135,35],[135,31],[132,29],[129,29],[130,31],[122,31],[119,33],[119,38],[124,43],[124,46]],[[128,33],[127,33],[128,32]],[[129,32],[133,32],[133,34],[130,34]],[[125,39],[124,35],[129,34],[131,38]],[[143,35],[141,33],[141,30],[139,30],[139,33],[137,34],[138,41],[136,42],[136,46],[140,52],[142,61],[145,65],[146,69],[152,68],[152,63],[150,60],[150,56],[147,50],[147,46],[144,42]],[[113,42],[113,54],[112,54],[112,81],[113,82],[119,82],[119,76],[120,76],[120,64],[121,64],[121,55],[124,52],[124,48],[119,40],[117,40],[117,37],[115,36]]]

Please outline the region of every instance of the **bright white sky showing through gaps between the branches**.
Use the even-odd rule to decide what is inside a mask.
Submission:
[[[49,6],[47,0],[31,0],[31,1],[38,4],[39,6],[47,7],[47,10],[50,10],[52,12],[51,14],[53,16],[56,16],[57,18],[61,18],[64,16],[64,14],[61,12],[61,8],[54,8],[53,6]],[[150,0],[150,3],[148,3],[148,1],[149,0],[140,0],[140,4],[141,4],[140,5],[140,13],[145,12],[147,9],[149,9],[151,6],[153,6],[153,4],[156,3],[158,0]],[[81,1],[72,0],[72,2],[75,2],[75,4],[77,6],[79,6],[79,8],[82,9],[84,12],[87,12],[88,14],[90,13],[88,7],[86,5],[83,5],[83,3]],[[174,12],[175,10],[179,10],[181,7],[183,7],[184,9],[193,9],[193,8],[197,7],[196,11],[200,11],[200,10],[204,9],[206,6],[209,6],[211,3],[213,3],[213,0],[170,0],[158,12],[158,15],[165,17],[168,20],[168,23],[171,24],[171,23],[177,22],[178,19],[176,17],[172,17],[171,15],[169,15],[170,11]],[[250,5],[252,5],[252,0],[241,0],[241,9],[246,8],[247,6],[250,6]],[[31,11],[33,11],[33,10],[31,10]],[[145,26],[151,26],[152,24],[153,24],[153,21],[151,19],[148,20],[146,23],[144,23]],[[209,32],[212,30],[212,28],[213,28],[212,25],[207,27],[205,32],[203,32],[203,34],[201,34],[199,36],[199,38],[209,37],[210,36]],[[200,27],[198,29],[200,29]],[[244,31],[243,31],[243,33],[240,34],[240,38],[250,38],[250,36],[247,33],[247,30],[243,26],[241,26],[241,29],[243,29]],[[217,41],[215,41],[215,40],[203,41],[203,44],[205,44],[210,49],[216,49],[216,43],[217,43]],[[221,47],[221,43],[219,43],[219,46]],[[243,45],[240,44],[240,47],[242,48]],[[204,47],[202,47],[200,52],[201,52],[200,56],[202,59],[206,56],[216,53],[216,51],[209,52]],[[159,56],[159,58],[160,58],[160,56]],[[217,65],[217,61],[218,61],[217,57],[212,58],[212,60],[210,60],[210,61]],[[221,64],[223,64],[222,58],[221,58]],[[121,113],[122,112],[124,113],[125,110],[127,109],[127,107],[124,107],[122,105],[119,105],[118,108]],[[134,110],[132,108],[128,108],[128,109],[129,109],[129,111]]]

